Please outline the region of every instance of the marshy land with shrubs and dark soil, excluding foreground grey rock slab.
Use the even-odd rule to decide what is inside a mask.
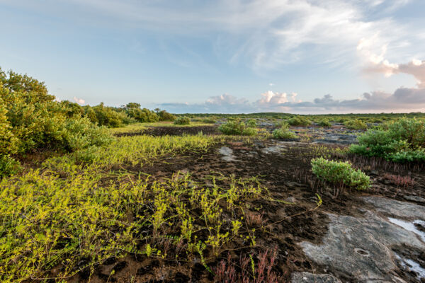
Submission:
[[[323,270],[298,243],[328,214],[424,195],[421,113],[172,115],[0,79],[1,282],[285,282]]]

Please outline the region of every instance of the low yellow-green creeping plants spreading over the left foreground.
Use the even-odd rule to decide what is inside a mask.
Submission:
[[[93,151],[91,164],[75,163],[77,151],[47,161],[44,171],[4,178],[0,182],[0,281],[47,277],[59,281],[128,252],[180,260],[180,254],[174,253],[178,246],[186,247],[183,255],[198,253],[204,263],[205,249],[217,255],[233,237],[243,236],[253,245],[254,231],[242,229],[240,214],[222,215],[222,211],[239,207],[243,212],[249,199],[266,195],[256,179],[220,176],[231,184],[220,187],[211,177],[213,187],[204,187],[189,175],[151,182],[145,175],[121,171],[124,163],[202,151],[215,141],[203,136],[123,137]],[[232,234],[223,231],[225,226],[232,227]],[[177,234],[175,227],[181,228]],[[201,236],[198,231],[208,233]],[[169,250],[161,245],[162,239],[169,239]]]

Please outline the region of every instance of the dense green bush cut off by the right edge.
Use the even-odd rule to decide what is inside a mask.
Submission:
[[[425,122],[404,117],[369,129],[358,137],[358,144],[353,144],[350,151],[395,162],[424,162]]]

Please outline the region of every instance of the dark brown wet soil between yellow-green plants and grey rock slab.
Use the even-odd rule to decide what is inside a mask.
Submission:
[[[147,132],[152,135],[164,134],[213,134],[216,127],[157,127]],[[144,132],[144,134],[147,134]],[[222,158],[219,149],[222,146],[232,150],[233,159]],[[244,144],[239,141],[228,141],[210,148],[207,152],[189,152],[179,156],[162,158],[149,166],[128,166],[128,171],[151,175],[152,180],[173,178],[176,173],[190,173],[192,180],[210,186],[208,178],[211,175],[234,175],[236,178],[251,178],[257,176],[261,184],[268,188],[273,202],[258,200],[252,203],[253,213],[261,214],[263,226],[267,229],[258,231],[256,248],[237,249],[228,246],[227,251],[219,255],[217,260],[210,260],[212,268],[219,260],[239,258],[243,254],[259,253],[261,250],[277,250],[274,271],[283,275],[287,282],[293,272],[323,272],[331,270],[329,266],[317,265],[303,252],[299,243],[308,241],[321,244],[329,227],[329,214],[361,217],[365,209],[372,209],[359,196],[382,195],[404,202],[423,205],[425,201],[425,174],[421,167],[398,166],[384,161],[351,158],[358,168],[370,175],[373,187],[368,191],[358,192],[329,187],[314,178],[311,172],[310,160],[314,157],[317,146],[311,143],[282,143],[274,140],[256,141]],[[331,149],[336,146],[325,144]],[[332,158],[338,159],[335,154]],[[389,175],[407,176],[413,183],[399,184]],[[317,195],[322,198],[322,205],[317,207]],[[408,200],[407,197],[411,197]],[[415,201],[416,200],[416,201]],[[402,253],[402,252],[399,252]],[[115,275],[111,275],[115,270]],[[403,275],[402,270],[396,270],[400,277],[409,282],[412,276]],[[356,282],[356,278],[341,275],[344,282]],[[75,277],[74,282],[87,281],[83,275]],[[191,262],[169,261],[146,258],[145,256],[127,255],[119,260],[111,259],[96,267],[94,277],[90,282],[213,282],[213,277],[200,264],[199,259]]]

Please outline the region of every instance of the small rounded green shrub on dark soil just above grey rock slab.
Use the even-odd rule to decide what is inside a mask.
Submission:
[[[365,190],[370,187],[369,176],[360,169],[354,169],[348,161],[329,161],[320,157],[312,159],[311,164],[312,171],[319,180],[357,190]]]

